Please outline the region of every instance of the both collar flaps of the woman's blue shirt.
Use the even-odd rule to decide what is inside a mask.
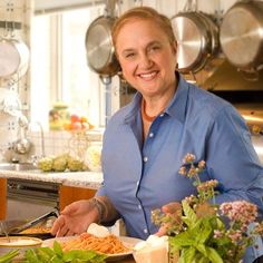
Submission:
[[[179,74],[177,74],[177,90],[164,113],[168,114],[174,118],[177,118],[181,123],[184,123],[188,97],[188,84]],[[133,101],[127,106],[128,110],[127,115],[125,116],[125,123],[129,123],[132,119],[135,118],[138,111],[140,111],[142,97],[143,96],[140,92],[135,94]]]

